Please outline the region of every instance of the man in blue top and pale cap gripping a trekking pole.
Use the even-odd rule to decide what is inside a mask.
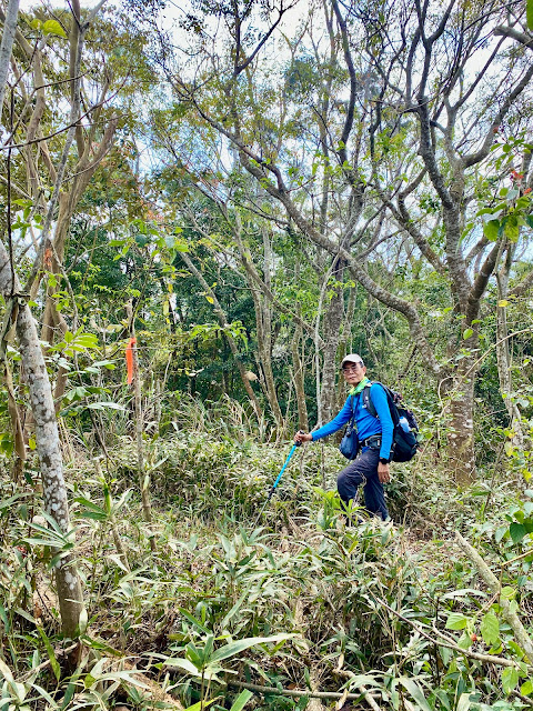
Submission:
[[[370,388],[370,398],[378,417],[374,418],[364,407],[362,392],[371,381],[366,378],[366,368],[358,353],[350,353],[341,363],[344,380],[351,390],[339,414],[314,432],[298,432],[295,442],[314,442],[340,430],[352,418],[352,400],[358,427],[360,454],[343,469],[338,477],[336,488],[344,505],[354,499],[361,484],[364,485],[364,505],[368,511],[389,518],[383,484],[391,479],[389,463],[394,424],[386,401],[386,394],[380,383]],[[352,398],[353,395],[353,398]]]

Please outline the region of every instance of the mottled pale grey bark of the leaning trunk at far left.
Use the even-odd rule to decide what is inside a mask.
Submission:
[[[6,248],[0,242],[0,293],[6,300],[11,297],[12,268]],[[21,293],[19,280],[14,279],[14,292]],[[37,452],[43,487],[44,509],[64,534],[71,531],[67,488],[63,478],[63,461],[59,430],[53,407],[52,390],[40,347],[37,326],[30,308],[22,297],[17,299],[17,337],[24,374],[30,392],[30,404],[36,424]],[[70,540],[72,540],[70,532]],[[62,633],[73,638],[79,629],[83,610],[83,595],[74,557],[62,558],[54,570]]]

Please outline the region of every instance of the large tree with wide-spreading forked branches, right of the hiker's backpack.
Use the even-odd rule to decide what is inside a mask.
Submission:
[[[325,127],[322,132],[310,136],[301,104],[289,101],[288,78],[299,77],[303,83],[301,60],[291,59],[291,71],[285,71],[280,91],[274,89],[266,42],[276,28],[275,14],[254,42],[249,12],[239,6],[212,8],[227,20],[231,51],[225,62],[204,51],[198,79],[169,63],[167,76],[199,120],[234,147],[244,170],[291,223],[316,248],[342,260],[333,270],[344,263],[374,299],[408,320],[421,358],[450,400],[449,458],[455,479],[465,483],[475,474],[473,387],[480,309],[505,246],[515,239],[513,200],[520,199],[512,193],[497,227],[485,227],[480,236],[476,212],[497,194],[494,189],[481,194],[479,184],[500,127],[513,117],[533,67],[523,60],[525,49],[495,38],[506,17],[501,2],[485,2],[475,10],[469,3],[442,8],[429,1],[414,7],[384,2],[375,17],[356,4],[344,10],[333,1],[332,9],[331,14],[324,4],[330,56],[311,64],[321,90],[330,96],[326,103],[319,101],[320,92],[309,101]],[[521,18],[510,16],[512,23]],[[318,48],[321,30],[309,23],[301,36],[305,32],[310,47]],[[471,67],[477,66],[482,47],[487,57],[475,72]],[[496,60],[503,69],[494,80]],[[334,79],[329,81],[331,73]],[[278,80],[279,74],[278,69]],[[309,90],[308,77],[309,72]],[[301,146],[304,134],[313,152],[303,151],[295,164],[293,148]],[[331,197],[320,213],[326,216],[326,224],[314,210],[316,194]],[[425,212],[423,204],[429,207]],[[431,319],[409,288],[402,284],[392,291],[386,283],[385,260],[398,253],[398,259],[409,261],[413,249],[426,273],[439,274],[449,289],[453,322],[447,352],[431,341]],[[381,273],[371,268],[371,259],[378,260]],[[332,323],[338,329],[340,321]],[[336,346],[332,341],[330,362]],[[324,381],[331,389],[328,378]]]

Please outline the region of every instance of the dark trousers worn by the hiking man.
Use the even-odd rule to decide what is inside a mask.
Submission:
[[[358,495],[358,489],[363,484],[364,508],[383,519],[389,518],[385,492],[378,477],[380,450],[366,449],[343,469],[336,479],[336,489],[344,505]]]

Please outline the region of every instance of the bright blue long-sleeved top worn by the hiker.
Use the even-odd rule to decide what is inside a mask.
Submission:
[[[311,432],[313,442],[322,439],[323,437],[328,437],[328,434],[333,434],[333,432],[336,432],[341,427],[350,421],[352,417],[352,398],[355,410],[355,423],[358,425],[359,441],[361,442],[373,434],[381,434],[380,457],[389,459],[391,455],[394,424],[392,422],[391,411],[389,410],[385,391],[379,382],[374,382],[370,388],[370,398],[374,403],[375,411],[378,412],[376,418],[374,418],[366,408],[363,407],[362,393],[359,393],[358,395],[348,395],[348,399],[339,414],[319,430]]]

